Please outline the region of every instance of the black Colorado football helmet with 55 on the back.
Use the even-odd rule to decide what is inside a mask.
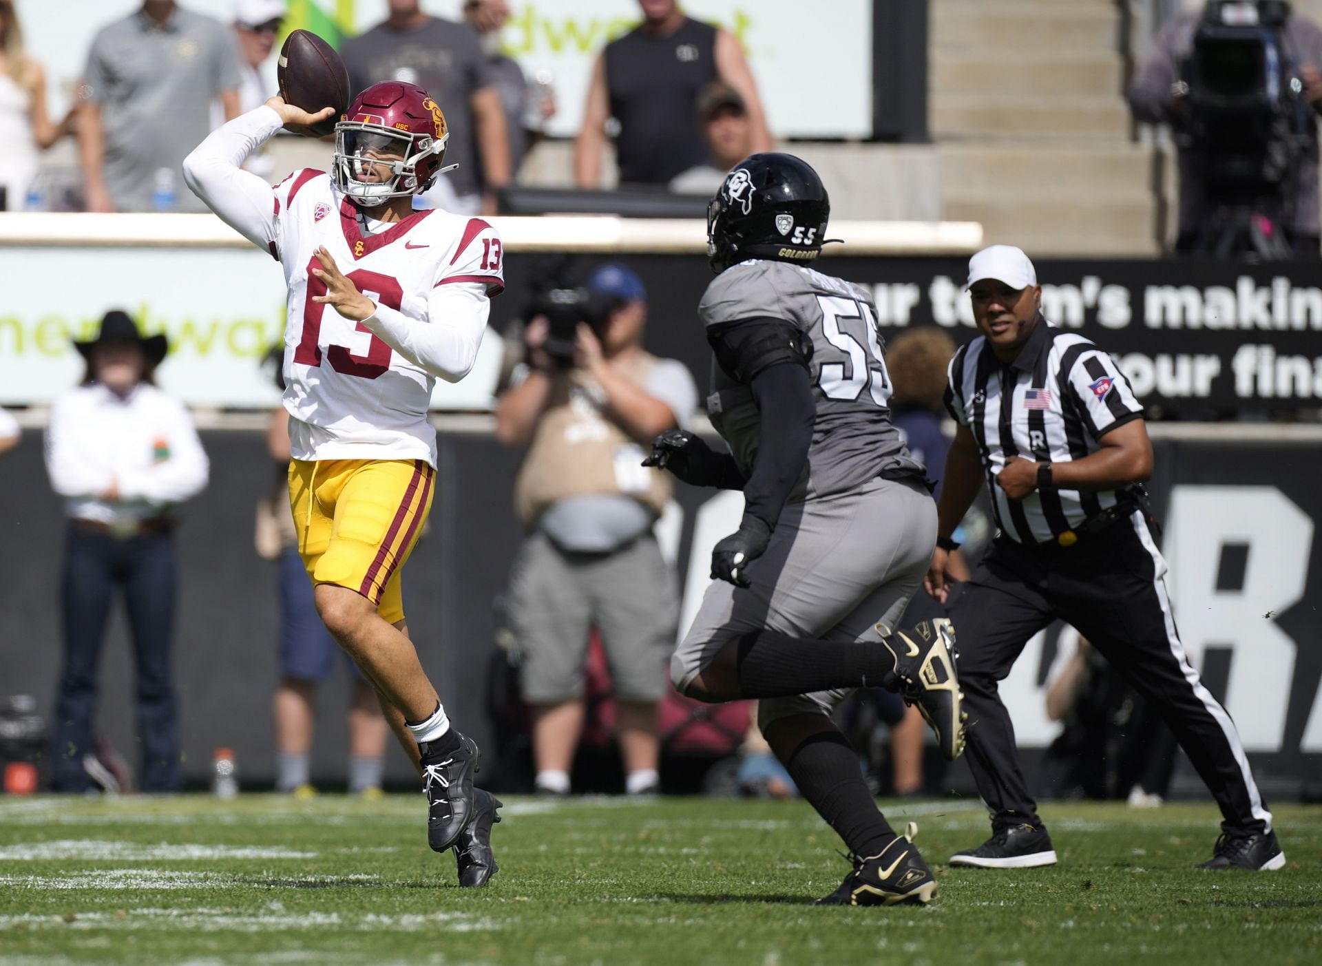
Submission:
[[[802,159],[779,152],[736,164],[707,204],[707,262],[723,272],[750,258],[810,262],[826,241],[830,197]]]

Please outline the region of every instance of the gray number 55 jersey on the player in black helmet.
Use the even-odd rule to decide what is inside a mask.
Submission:
[[[817,419],[796,497],[857,489],[878,476],[923,476],[891,423],[876,308],[861,285],[804,266],[760,259],[720,272],[702,296],[705,325],[781,318],[812,338]],[[713,359],[707,414],[739,468],[752,472],[760,414],[752,390]]]

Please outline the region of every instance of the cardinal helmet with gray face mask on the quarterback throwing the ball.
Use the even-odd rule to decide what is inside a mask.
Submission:
[[[374,83],[334,126],[334,186],[364,207],[422,194],[436,181],[449,131],[446,115],[418,85]],[[382,177],[382,180],[369,180]]]

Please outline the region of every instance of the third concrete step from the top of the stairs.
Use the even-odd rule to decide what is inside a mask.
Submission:
[[[932,133],[943,137],[1077,137],[1120,140],[1129,136],[1129,112],[1110,96],[1034,96],[932,94]]]

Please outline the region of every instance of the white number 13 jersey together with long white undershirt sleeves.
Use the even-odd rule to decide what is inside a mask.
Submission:
[[[325,172],[303,169],[274,189],[238,168],[279,131],[268,107],[212,133],[184,163],[189,186],[284,267],[284,407],[297,460],[427,460],[435,378],[461,379],[477,357],[490,297],[504,288],[500,235],[481,218],[415,211],[366,221]],[[258,186],[260,193],[258,192]],[[325,247],[377,312],[361,322],[313,301]]]

